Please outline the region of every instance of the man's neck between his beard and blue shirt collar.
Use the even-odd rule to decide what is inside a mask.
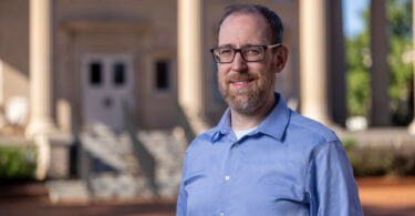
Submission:
[[[234,130],[248,130],[258,126],[272,111],[277,100],[272,94],[268,96],[264,103],[252,114],[243,114],[230,109],[231,126]]]

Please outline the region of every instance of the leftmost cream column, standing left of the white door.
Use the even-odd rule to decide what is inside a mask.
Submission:
[[[49,134],[52,122],[51,0],[30,0],[30,122],[27,135]]]

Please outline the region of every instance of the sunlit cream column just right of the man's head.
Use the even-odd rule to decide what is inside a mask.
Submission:
[[[328,110],[325,0],[300,0],[301,114],[331,124]]]

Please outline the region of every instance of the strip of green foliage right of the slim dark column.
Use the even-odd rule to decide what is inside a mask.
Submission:
[[[412,1],[387,1],[387,30],[390,40],[391,109],[396,125],[407,125],[413,115],[412,79]]]

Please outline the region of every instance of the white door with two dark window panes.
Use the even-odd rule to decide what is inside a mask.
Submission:
[[[105,124],[123,130],[124,104],[134,105],[132,56],[86,54],[82,68],[84,125]]]

